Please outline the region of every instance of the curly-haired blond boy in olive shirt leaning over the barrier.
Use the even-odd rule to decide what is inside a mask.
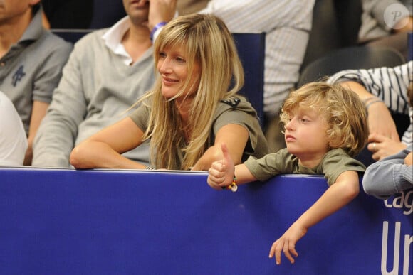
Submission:
[[[269,257],[275,255],[276,264],[281,264],[281,252],[293,264],[293,257],[298,257],[296,242],[308,229],[359,193],[359,173],[365,166],[353,157],[367,142],[367,116],[351,90],[311,82],[291,92],[281,109],[281,121],[286,149],[234,166],[224,144],[224,157],[212,163],[207,181],[221,190],[283,173],[324,174],[329,188],[271,247]]]

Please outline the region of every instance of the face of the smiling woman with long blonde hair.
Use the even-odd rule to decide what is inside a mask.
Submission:
[[[181,45],[162,50],[157,62],[157,70],[162,77],[162,95],[167,99],[174,97],[182,90],[188,77],[190,77],[189,85],[182,97],[194,95],[198,89],[200,65],[195,62],[192,65],[192,72],[189,72],[187,55]]]

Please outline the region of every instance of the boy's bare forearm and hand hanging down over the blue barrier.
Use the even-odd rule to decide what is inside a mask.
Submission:
[[[276,264],[281,264],[281,251],[283,251],[293,264],[293,256],[298,257],[295,248],[298,239],[303,237],[310,227],[350,203],[358,195],[359,190],[359,178],[356,171],[341,173],[335,183],[288,228],[283,236],[273,243],[269,257],[275,254]]]

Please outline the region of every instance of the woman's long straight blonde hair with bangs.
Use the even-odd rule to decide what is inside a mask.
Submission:
[[[182,122],[174,99],[182,96],[190,77],[178,95],[165,99],[158,76],[154,88],[142,98],[144,104],[150,106],[144,139],[150,139],[152,164],[156,168],[187,170],[207,149],[219,101],[235,95],[244,85],[244,70],[231,33],[216,16],[190,14],[167,23],[155,41],[155,68],[160,53],[175,45],[182,46],[187,55],[189,75],[194,63],[200,66],[199,87],[194,87],[196,92],[189,109],[189,123]],[[191,135],[187,144],[184,131],[188,130]],[[184,158],[180,160],[182,149]]]

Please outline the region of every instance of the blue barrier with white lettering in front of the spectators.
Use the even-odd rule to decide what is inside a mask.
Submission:
[[[361,191],[300,239],[295,264],[268,259],[326,188],[321,176],[231,193],[201,172],[0,168],[0,274],[412,274],[413,190]]]

